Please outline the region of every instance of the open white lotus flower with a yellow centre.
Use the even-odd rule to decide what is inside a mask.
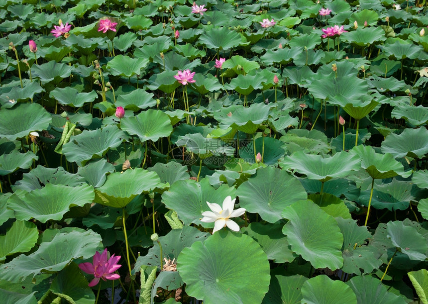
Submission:
[[[239,226],[237,223],[235,223],[233,220],[230,219],[230,217],[238,217],[244,214],[245,208],[239,208],[236,210],[233,210],[233,207],[235,205],[235,200],[228,196],[223,201],[223,207],[221,208],[219,204],[217,203],[208,203],[208,206],[212,211],[205,211],[202,212],[202,215],[204,217],[201,219],[201,221],[206,223],[214,223],[214,229],[213,234],[215,231],[220,230],[224,226],[229,227],[230,230],[233,231],[239,231]]]

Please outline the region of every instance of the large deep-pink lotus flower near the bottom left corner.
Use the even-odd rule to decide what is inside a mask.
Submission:
[[[120,278],[118,274],[112,274],[122,265],[116,264],[120,260],[120,256],[114,256],[114,254],[107,260],[107,248],[104,249],[103,253],[100,254],[98,251],[94,255],[93,263],[81,263],[79,268],[84,272],[93,274],[95,278],[89,283],[89,287],[93,287],[100,282],[107,280],[117,280]]]

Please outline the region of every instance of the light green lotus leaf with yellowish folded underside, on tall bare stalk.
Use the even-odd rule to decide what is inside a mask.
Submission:
[[[95,190],[95,202],[114,208],[123,208],[136,196],[163,188],[159,176],[142,168],[115,172],[107,176],[106,183]]]

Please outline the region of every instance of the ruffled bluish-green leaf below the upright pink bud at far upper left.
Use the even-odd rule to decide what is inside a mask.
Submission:
[[[72,71],[73,67],[65,63],[57,63],[54,60],[31,67],[32,76],[38,77],[42,84],[49,82],[58,84],[63,78],[69,77]]]

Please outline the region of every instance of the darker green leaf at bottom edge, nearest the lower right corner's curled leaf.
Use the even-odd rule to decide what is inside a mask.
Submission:
[[[388,292],[381,281],[372,276],[356,276],[346,284],[357,296],[358,304],[406,304],[400,296]]]

